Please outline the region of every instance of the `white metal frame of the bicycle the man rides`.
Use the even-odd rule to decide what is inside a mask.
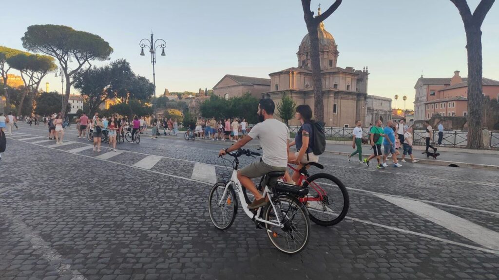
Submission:
[[[244,197],[243,189],[242,189],[242,188],[244,188],[244,186],[241,184],[241,182],[238,179],[238,170],[236,170],[236,169],[233,170],[231,180],[225,186],[224,193],[222,194],[222,198],[220,199],[218,206],[221,206],[224,203],[224,200],[226,199],[225,197],[226,197],[227,192],[229,191],[229,187],[231,185],[233,186],[234,190],[238,193],[239,201],[241,201],[241,206],[243,207],[243,210],[245,211],[246,215],[248,215],[248,217],[250,217],[251,220],[262,222],[265,224],[271,224],[274,226],[278,226],[280,228],[284,227],[284,225],[281,224],[281,222],[279,221],[278,215],[275,215],[275,217],[277,218],[277,223],[273,223],[273,222],[258,218],[261,214],[262,207],[258,208],[256,213],[253,213],[250,211],[250,209],[248,209],[248,203],[246,203],[246,199]],[[265,186],[265,188],[263,189],[262,195],[263,195],[263,197],[268,196],[268,187],[267,186]],[[269,199],[269,202],[274,210],[274,213],[277,213],[277,211],[275,210],[275,205],[272,203],[271,199]],[[268,229],[267,229],[267,231],[268,231]]]

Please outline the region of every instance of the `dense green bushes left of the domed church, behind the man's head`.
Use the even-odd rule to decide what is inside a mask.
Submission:
[[[201,115],[205,118],[215,117],[217,120],[239,118],[241,120],[246,119],[250,124],[258,122],[257,110],[258,100],[250,94],[230,98],[229,100],[212,95],[210,99],[200,106]]]

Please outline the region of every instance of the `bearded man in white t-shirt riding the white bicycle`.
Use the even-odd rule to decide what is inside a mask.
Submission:
[[[271,171],[285,171],[287,167],[288,155],[288,135],[286,125],[274,119],[274,102],[269,98],[261,99],[258,103],[258,121],[242,140],[226,149],[221,149],[219,156],[228,152],[238,150],[249,141],[258,138],[263,156],[238,171],[238,179],[247,188],[255,200],[248,205],[249,209],[256,209],[266,204],[265,199],[256,189],[252,178],[261,177]]]

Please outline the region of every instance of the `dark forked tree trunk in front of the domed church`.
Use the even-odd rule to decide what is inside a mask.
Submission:
[[[310,0],[301,0],[305,23],[310,37],[310,64],[312,67],[312,84],[314,96],[314,119],[317,122],[324,122],[324,105],[322,102],[322,80],[320,73],[319,59],[319,35],[317,29],[319,24],[329,17],[341,4],[342,0],[336,0],[324,13],[314,17],[310,10]]]

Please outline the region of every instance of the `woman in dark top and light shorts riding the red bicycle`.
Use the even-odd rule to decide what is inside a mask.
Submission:
[[[312,109],[308,105],[299,105],[296,107],[295,119],[301,123],[301,127],[294,137],[294,141],[289,143],[289,146],[296,145],[296,152],[289,152],[287,162],[296,164],[297,170],[303,167],[303,164],[319,161],[319,156],[312,152],[311,138],[313,137]],[[294,184],[298,181],[299,172],[294,172],[290,177],[288,171],[284,175],[286,182]]]

